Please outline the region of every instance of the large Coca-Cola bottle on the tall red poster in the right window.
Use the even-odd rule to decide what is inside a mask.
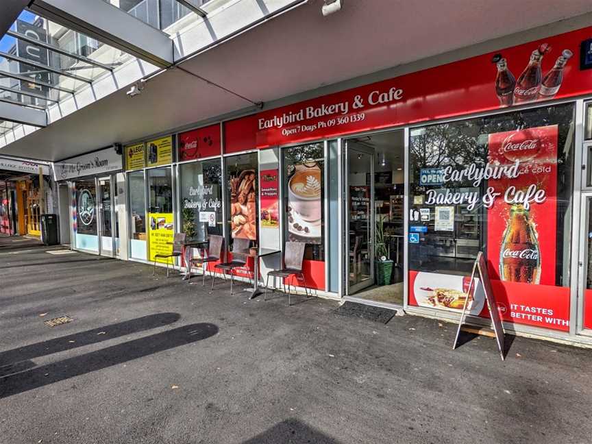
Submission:
[[[510,220],[499,249],[499,277],[527,284],[539,284],[541,280],[539,235],[529,211],[519,204],[510,208]]]

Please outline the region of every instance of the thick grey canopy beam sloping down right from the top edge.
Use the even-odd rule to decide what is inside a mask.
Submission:
[[[167,34],[106,1],[35,0],[27,9],[160,68],[174,63],[175,48]]]

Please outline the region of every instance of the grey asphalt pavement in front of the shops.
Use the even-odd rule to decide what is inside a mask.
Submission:
[[[47,250],[0,248],[0,443],[592,441],[590,350]]]

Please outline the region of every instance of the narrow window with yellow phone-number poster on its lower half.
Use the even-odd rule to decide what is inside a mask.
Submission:
[[[175,225],[173,222],[173,180],[171,168],[146,171],[148,180],[148,251],[149,260],[166,262],[156,255],[171,254]]]

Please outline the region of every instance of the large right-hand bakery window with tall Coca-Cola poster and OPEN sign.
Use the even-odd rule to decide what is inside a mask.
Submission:
[[[462,309],[484,251],[504,319],[568,328],[573,112],[566,104],[411,130],[410,304]],[[486,310],[468,297],[472,314]]]

